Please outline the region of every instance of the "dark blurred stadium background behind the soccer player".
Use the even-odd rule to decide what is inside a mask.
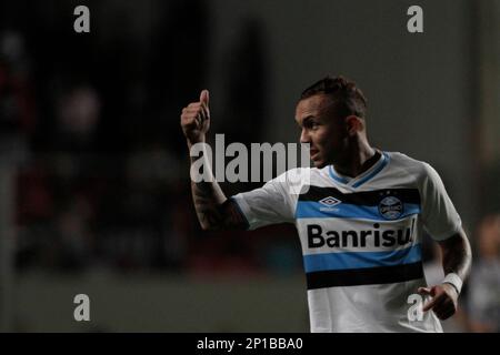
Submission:
[[[209,89],[212,139],[298,142],[299,94],[329,73],[364,92],[372,144],[432,164],[462,216],[473,270],[444,328],[499,332],[496,0],[0,0],[0,329],[308,332],[294,229],[200,231],[179,116]]]

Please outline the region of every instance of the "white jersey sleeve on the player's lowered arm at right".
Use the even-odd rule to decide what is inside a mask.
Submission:
[[[461,229],[461,220],[436,170],[424,163],[420,186],[422,221],[426,231],[436,241],[443,241]]]

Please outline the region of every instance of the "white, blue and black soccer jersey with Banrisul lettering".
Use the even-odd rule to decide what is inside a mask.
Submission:
[[[296,224],[311,332],[442,332],[433,312],[409,317],[410,295],[427,286],[423,230],[442,241],[461,229],[429,164],[382,152],[354,179],[332,165],[296,169],[232,199],[251,230]]]

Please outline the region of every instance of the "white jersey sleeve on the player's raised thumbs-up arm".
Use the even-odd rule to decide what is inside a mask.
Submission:
[[[277,223],[293,223],[294,197],[287,173],[268,181],[262,187],[239,193],[231,199],[246,216],[249,230]]]

